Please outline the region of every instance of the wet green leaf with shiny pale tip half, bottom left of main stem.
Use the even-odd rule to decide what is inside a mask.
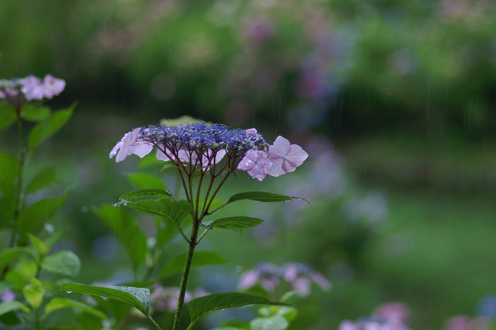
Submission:
[[[149,316],[150,290],[146,288],[135,288],[132,286],[93,286],[79,283],[65,283],[59,285],[57,291],[79,292],[95,296],[103,296],[110,299],[124,301],[145,316]],[[55,291],[55,292],[57,292]]]

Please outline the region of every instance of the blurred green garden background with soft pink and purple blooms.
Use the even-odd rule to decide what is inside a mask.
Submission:
[[[241,269],[307,263],[334,287],[295,301],[292,329],[335,329],[391,300],[410,306],[413,329],[441,329],[496,292],[495,5],[2,0],[0,76],[50,72],[67,87],[48,104],[79,102],[29,166],[55,163],[74,185],[54,224],[71,228],[61,244],[82,258],[80,282],[129,275],[91,208],[130,191],[139,160],[108,152],[132,128],[187,114],[281,133],[310,154],[282,178],[231,181],[224,198],[266,190],[310,204],[246,202],[267,221],[241,237],[213,231],[206,245],[233,264],[200,270],[198,285],[234,290]]]

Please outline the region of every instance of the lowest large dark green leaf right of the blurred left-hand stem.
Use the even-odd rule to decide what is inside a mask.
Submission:
[[[66,195],[53,199],[42,199],[24,208],[17,219],[17,231],[19,232],[18,244],[24,244],[26,233],[37,234],[45,220],[57,213],[65,204]]]

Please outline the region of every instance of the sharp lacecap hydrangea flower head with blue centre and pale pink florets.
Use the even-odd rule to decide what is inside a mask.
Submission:
[[[260,181],[267,174],[278,177],[293,172],[308,157],[299,145],[282,136],[269,145],[256,129],[232,130],[225,125],[201,122],[136,128],[116,144],[110,158],[116,156],[120,162],[130,154],[144,157],[154,146],[157,159],[189,166],[190,174],[199,167],[213,175],[239,169]],[[224,158],[227,162],[216,169],[214,165]]]

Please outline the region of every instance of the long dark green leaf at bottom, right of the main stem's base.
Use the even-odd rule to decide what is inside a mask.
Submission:
[[[191,325],[193,325],[200,316],[203,316],[208,312],[248,305],[294,306],[291,304],[270,301],[266,297],[255,296],[249,293],[224,292],[193,299],[187,304],[187,308],[189,310],[189,315],[191,316]],[[189,326],[189,328],[191,328],[191,326]]]

